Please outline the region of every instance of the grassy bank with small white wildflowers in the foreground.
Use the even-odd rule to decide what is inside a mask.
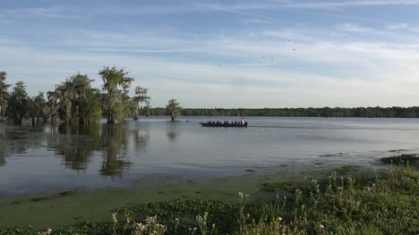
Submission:
[[[373,179],[332,172],[301,188],[261,182],[273,201],[175,200],[129,206],[108,222],[81,222],[46,234],[418,234],[419,173],[392,169]],[[48,233],[49,232],[49,233]],[[153,233],[155,232],[155,233]],[[0,234],[38,234],[31,228]]]

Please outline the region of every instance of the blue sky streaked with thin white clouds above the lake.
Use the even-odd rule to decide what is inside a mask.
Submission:
[[[419,0],[2,0],[0,71],[30,96],[130,71],[151,105],[419,105]]]

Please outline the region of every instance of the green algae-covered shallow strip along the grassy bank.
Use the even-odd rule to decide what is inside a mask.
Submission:
[[[276,168],[276,171],[274,171]],[[269,201],[275,193],[261,191],[261,180],[280,179],[292,187],[304,186],[310,179],[327,179],[329,172],[370,172],[359,166],[305,169],[290,173],[277,166],[269,171],[245,172],[241,176],[216,179],[188,180],[164,178],[157,180],[135,180],[129,187],[82,191],[63,191],[25,194],[19,196],[0,195],[0,229],[30,225],[34,228],[70,226],[82,221],[104,222],[109,214],[118,208],[152,202],[173,200],[221,200],[236,201],[238,191],[251,194],[253,200]],[[157,176],[157,178],[160,176]]]

